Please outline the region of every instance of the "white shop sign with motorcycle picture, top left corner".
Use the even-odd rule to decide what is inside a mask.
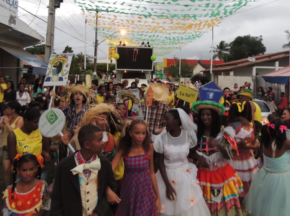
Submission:
[[[17,0],[0,1],[0,22],[15,29],[18,16]]]

